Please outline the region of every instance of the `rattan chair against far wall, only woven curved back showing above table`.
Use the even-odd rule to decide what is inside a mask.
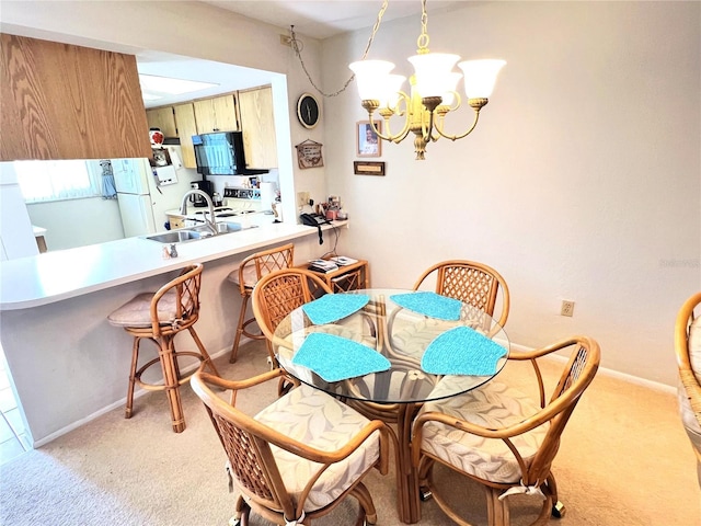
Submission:
[[[467,260],[441,261],[428,267],[414,283],[414,290],[430,285],[436,294],[470,304],[494,318],[499,290],[501,312],[495,318],[504,327],[508,318],[509,294],[506,281],[489,265]]]

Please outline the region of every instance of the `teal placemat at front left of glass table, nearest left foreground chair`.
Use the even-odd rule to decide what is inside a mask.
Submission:
[[[302,365],[326,381],[345,380],[390,368],[380,353],[345,338],[312,332],[295,354],[292,364]]]

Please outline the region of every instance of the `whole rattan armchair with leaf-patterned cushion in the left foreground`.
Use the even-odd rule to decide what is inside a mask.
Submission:
[[[229,381],[198,373],[192,379],[226,450],[230,489],[240,492],[229,524],[249,524],[253,510],[274,524],[309,525],[346,496],[360,504],[353,524],[376,524],[363,479],[372,468],[388,472],[387,426],[304,385],[253,416],[235,407],[239,391],[281,375],[274,369]],[[231,389],[231,403],[221,389]]]

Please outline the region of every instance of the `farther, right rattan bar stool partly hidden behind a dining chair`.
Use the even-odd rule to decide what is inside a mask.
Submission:
[[[229,274],[228,279],[235,283],[239,286],[239,291],[241,293],[241,311],[239,312],[239,323],[237,325],[237,334],[233,339],[233,345],[231,346],[229,363],[233,364],[237,361],[241,336],[246,336],[252,340],[265,340],[265,334],[262,332],[254,334],[246,330],[246,327],[255,321],[255,317],[253,315],[251,315],[250,318],[246,318],[246,309],[251,299],[251,294],[253,293],[253,287],[255,287],[258,279],[271,272],[292,266],[294,255],[294,243],[256,252],[255,254],[251,254],[244,259],[239,267]]]

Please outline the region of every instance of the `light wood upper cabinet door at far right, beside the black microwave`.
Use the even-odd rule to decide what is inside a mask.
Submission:
[[[265,87],[239,92],[243,149],[248,168],[276,168],[277,141],[273,90]]]

